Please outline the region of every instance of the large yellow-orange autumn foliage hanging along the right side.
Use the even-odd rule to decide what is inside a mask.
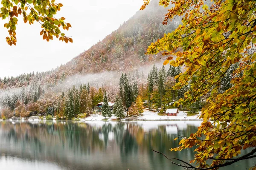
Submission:
[[[150,0],[144,0],[143,10]],[[176,102],[190,104],[208,95],[198,131],[180,140],[179,151],[195,146],[195,159],[171,160],[188,170],[218,169],[256,157],[256,1],[160,0],[170,8],[163,24],[182,17],[182,25],[152,43],[147,54],[162,52],[164,64],[184,67],[175,77],[179,90],[189,84],[184,97]],[[173,56],[176,56],[173,59]],[[233,64],[230,88],[219,93],[221,79]],[[209,121],[211,120],[211,122]],[[204,136],[204,138],[201,138]],[[241,155],[241,150],[247,153]],[[253,170],[256,167],[252,167]]]

